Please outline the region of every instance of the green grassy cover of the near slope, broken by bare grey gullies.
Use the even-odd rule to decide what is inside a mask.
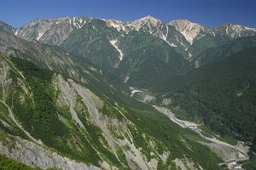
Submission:
[[[90,144],[94,144],[97,150],[100,150],[102,154],[108,158],[108,162],[112,162],[117,167],[120,166],[115,156],[100,147],[101,143],[99,143],[99,141],[102,140],[101,132],[99,132],[96,127],[87,124],[86,119],[81,116],[79,117],[83,120],[86,129],[88,129],[90,141],[84,139],[84,133],[81,132],[78,127],[73,125],[71,127],[65,127],[64,124],[56,118],[55,112],[58,112],[61,116],[65,116],[67,119],[71,120],[69,123],[72,124],[72,119],[68,116],[69,114],[65,108],[61,109],[55,105],[55,93],[49,86],[50,77],[52,77],[51,71],[40,69],[38,66],[26,60],[15,58],[12,59],[12,61],[15,63],[16,67],[26,75],[26,81],[34,95],[33,99],[35,105],[31,104],[31,99],[29,98],[25,105],[20,105],[19,102],[13,104],[15,115],[19,118],[27,131],[32,133],[35,138],[41,139],[45,144],[55,148],[55,150],[59,150],[65,156],[97,165],[96,161],[98,157],[94,150],[90,148]],[[15,78],[15,73],[13,73],[12,76]],[[13,91],[10,92],[9,102],[11,102],[10,99],[14,97],[18,98],[18,94],[20,94],[20,89],[14,88]],[[110,102],[108,105],[111,108],[113,102]],[[125,108],[125,116],[137,126],[138,133],[133,131],[131,131],[131,133],[134,136],[137,147],[146,147],[144,148],[144,154],[146,156],[150,156],[150,154],[147,151],[147,144],[143,142],[143,133],[148,133],[148,135],[160,141],[160,143],[157,144],[159,150],[162,150],[161,144],[166,145],[168,150],[171,150],[171,156],[167,161],[169,165],[173,164],[172,159],[183,159],[184,156],[186,156],[195,162],[199,162],[202,167],[207,169],[218,168],[218,158],[212,154],[207,147],[196,143],[193,141],[193,138],[187,138],[187,134],[191,133],[190,131],[177,127],[176,124],[166,119],[166,116],[154,111],[153,108],[147,105],[139,104],[138,102],[137,105],[133,107],[127,106],[123,102],[121,102],[121,105],[121,108]],[[108,111],[112,111],[112,114],[114,114],[113,109]],[[58,129],[58,132],[55,132],[55,129]],[[46,135],[48,133],[51,135]],[[79,138],[79,141],[81,141],[80,144],[85,146],[82,152],[74,150],[70,147],[70,144],[67,145],[67,139],[72,139],[73,133],[76,133],[76,138]],[[181,139],[183,139],[185,143]],[[88,144],[88,142],[90,142],[90,144]],[[193,151],[189,150],[187,146]],[[201,158],[202,154],[205,155],[204,158]],[[160,166],[163,166],[163,164]]]

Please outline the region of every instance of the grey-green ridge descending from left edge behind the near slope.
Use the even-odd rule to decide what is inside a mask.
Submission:
[[[41,68],[59,72],[66,77],[90,87],[99,95],[106,95],[111,99],[119,99],[119,95],[129,94],[129,88],[125,87],[123,80],[110,72],[81,62],[78,57],[63,51],[61,48],[52,47],[40,42],[27,42],[26,40],[15,37],[6,31],[0,30],[0,52],[11,54],[12,56],[28,59]],[[86,77],[86,81],[84,79]],[[124,95],[126,96],[126,95]],[[123,97],[121,100],[131,100]]]

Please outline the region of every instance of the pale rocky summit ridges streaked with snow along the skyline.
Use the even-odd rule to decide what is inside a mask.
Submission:
[[[15,30],[15,35],[25,38],[30,41],[40,41],[44,43],[61,45],[73,31],[79,30],[90,20],[95,20],[86,17],[66,17],[55,18],[48,20],[34,20]],[[119,20],[104,20],[107,26],[113,27],[123,36],[131,31],[148,32],[155,37],[159,37],[168,42],[172,47],[183,47],[183,50],[189,48],[195,40],[201,39],[204,36],[217,36],[219,34],[230,38],[247,37],[256,34],[255,28],[227,24],[207,28],[189,20],[172,20],[165,24],[161,20],[155,19],[152,16],[145,16],[135,21],[119,21]],[[171,26],[171,27],[170,27]],[[175,31],[169,31],[175,28]],[[185,39],[179,36],[182,34]],[[168,38],[172,37],[172,38]],[[176,38],[173,38],[176,37]],[[179,37],[179,38],[177,38]],[[189,42],[189,44],[188,44]]]

